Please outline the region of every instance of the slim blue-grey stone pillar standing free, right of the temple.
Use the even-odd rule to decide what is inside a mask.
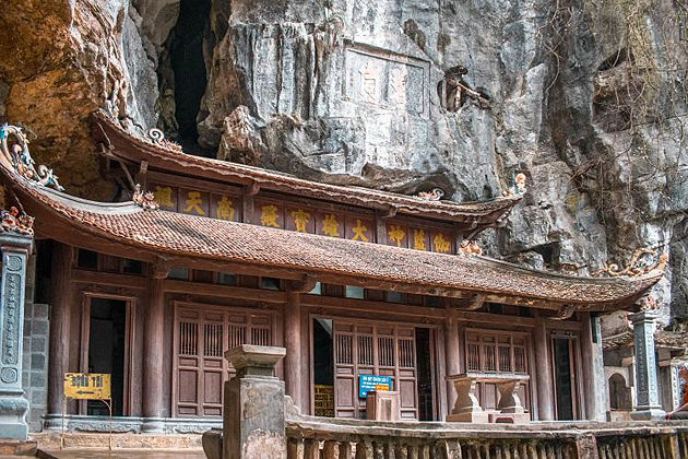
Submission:
[[[633,420],[661,420],[665,412],[660,403],[657,366],[654,354],[654,327],[657,314],[652,310],[631,314],[636,352],[636,407]]]

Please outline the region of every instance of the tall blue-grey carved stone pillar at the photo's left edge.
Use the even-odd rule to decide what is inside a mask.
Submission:
[[[28,437],[28,401],[22,388],[22,348],[26,259],[32,243],[31,236],[0,233],[0,438],[25,440]]]

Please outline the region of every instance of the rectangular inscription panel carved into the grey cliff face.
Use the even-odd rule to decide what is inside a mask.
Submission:
[[[426,115],[428,72],[420,59],[349,47],[344,95],[363,105]]]

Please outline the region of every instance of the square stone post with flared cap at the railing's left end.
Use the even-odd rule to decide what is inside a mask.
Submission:
[[[237,375],[225,382],[224,459],[286,459],[284,382],[274,376],[284,348],[244,344],[225,357]]]

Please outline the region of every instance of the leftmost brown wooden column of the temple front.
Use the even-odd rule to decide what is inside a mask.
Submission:
[[[69,370],[72,259],[74,249],[55,243],[50,278],[50,344],[48,355],[48,414],[62,412],[64,373]],[[56,421],[56,426],[57,426]]]

